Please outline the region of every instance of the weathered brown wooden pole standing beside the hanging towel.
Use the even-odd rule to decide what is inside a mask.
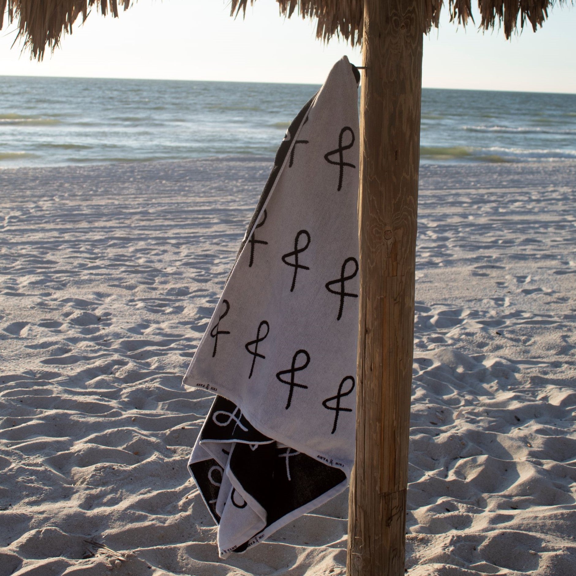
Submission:
[[[349,576],[404,574],[423,31],[421,0],[364,0]]]

